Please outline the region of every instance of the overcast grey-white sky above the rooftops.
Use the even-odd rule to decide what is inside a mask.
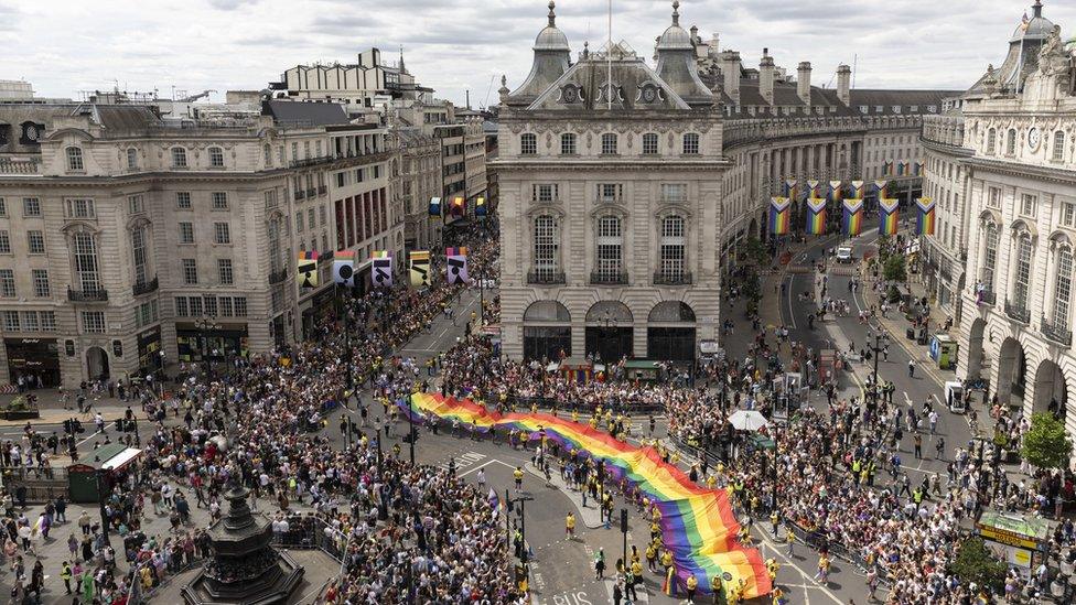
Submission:
[[[763,46],[778,65],[814,64],[827,85],[858,54],[861,88],[967,88],[1000,64],[1032,0],[684,0],[681,24],[757,66]],[[299,63],[354,62],[369,46],[438,96],[496,102],[527,75],[547,0],[0,0],[0,78],[33,83],[40,96],[111,88],[171,95],[260,89]],[[573,53],[606,36],[605,0],[561,0],[557,24]],[[613,0],[613,37],[650,57],[670,23],[670,2]],[[1076,26],[1076,2],[1046,0],[1044,15]],[[487,101],[488,94],[488,101]]]

